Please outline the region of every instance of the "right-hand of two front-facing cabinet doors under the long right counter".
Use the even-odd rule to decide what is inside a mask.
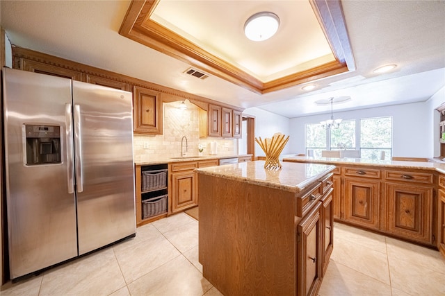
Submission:
[[[431,243],[432,188],[387,183],[387,230]]]

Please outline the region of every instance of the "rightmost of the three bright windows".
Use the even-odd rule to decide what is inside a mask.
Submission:
[[[368,159],[391,159],[392,117],[360,120],[360,155]]]

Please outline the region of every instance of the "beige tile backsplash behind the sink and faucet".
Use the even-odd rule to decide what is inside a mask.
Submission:
[[[184,136],[188,143],[186,155],[198,155],[199,144],[204,146],[203,155],[210,155],[210,143],[212,141],[216,141],[217,155],[237,154],[237,139],[200,139],[199,113],[196,105],[188,103],[187,110],[180,110],[177,105],[179,105],[179,102],[163,103],[163,134],[159,136],[134,134],[133,152],[135,162],[149,162],[156,158],[165,159],[181,156],[181,139]]]

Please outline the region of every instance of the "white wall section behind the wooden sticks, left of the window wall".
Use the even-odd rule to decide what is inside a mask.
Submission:
[[[289,142],[284,146],[282,155],[291,153],[291,131],[289,121],[290,119],[272,112],[261,110],[256,107],[248,108],[243,111],[243,114],[255,116],[255,137],[261,137],[261,139],[271,138],[273,134],[281,132],[286,137],[289,135]],[[264,151],[255,143],[255,155],[265,156]]]

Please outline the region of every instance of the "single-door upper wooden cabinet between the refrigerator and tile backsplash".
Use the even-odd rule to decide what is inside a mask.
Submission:
[[[161,93],[144,87],[133,88],[133,130],[162,134]]]

